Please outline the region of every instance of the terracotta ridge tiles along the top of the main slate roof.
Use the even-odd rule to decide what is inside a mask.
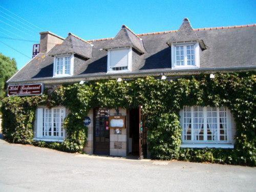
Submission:
[[[255,26],[256,26],[256,24],[250,24],[250,25],[227,26],[227,27],[198,28],[198,29],[193,29],[193,30],[194,31],[207,31],[207,30],[215,30],[215,29],[233,29],[233,28],[245,28],[245,27],[255,27]],[[177,31],[178,30],[170,30],[170,31],[160,31],[160,32],[151,32],[151,33],[140,33],[140,34],[135,34],[135,35],[139,37],[139,36],[144,36],[144,35],[157,35],[157,34],[172,33],[172,32],[177,32]],[[134,32],[132,32],[132,33],[134,33]],[[101,39],[92,39],[92,40],[88,40],[88,41],[93,42],[93,41],[112,40],[112,39],[114,39],[114,37],[101,38]]]

